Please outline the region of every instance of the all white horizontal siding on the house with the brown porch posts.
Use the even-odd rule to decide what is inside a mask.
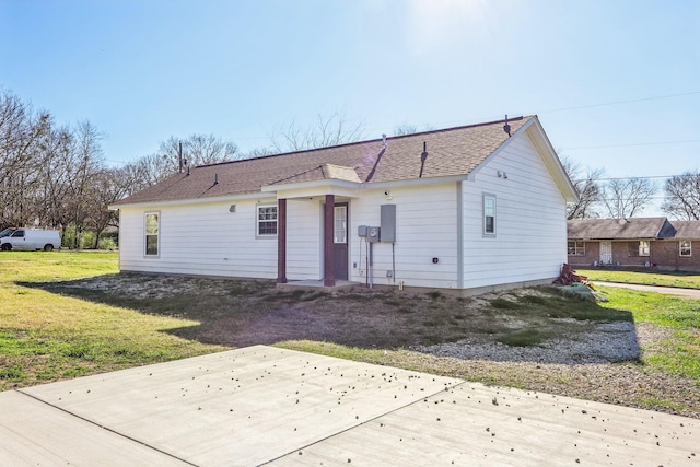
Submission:
[[[498,171],[508,178],[499,177]],[[368,281],[369,245],[358,236],[358,226],[378,226],[381,205],[396,205],[396,242],[373,244],[374,284],[474,289],[559,275],[567,260],[565,205],[526,133],[513,138],[472,180],[462,182],[462,191],[458,184],[394,187],[390,200],[384,189],[361,189],[359,198],[336,198],[349,202],[349,279]],[[485,194],[497,198],[495,236],[482,233]],[[120,268],[275,279],[277,237],[256,237],[258,201],[277,202],[267,198],[122,209]],[[287,201],[290,281],[323,279],[323,202],[318,197]],[[231,203],[236,205],[233,213]],[[458,264],[459,206],[463,265]],[[144,256],[144,213],[153,211],[161,214],[156,258]]]

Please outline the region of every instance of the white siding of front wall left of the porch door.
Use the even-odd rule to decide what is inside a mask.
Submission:
[[[277,236],[256,237],[256,207],[275,199],[122,209],[119,265],[125,271],[277,278]],[[236,211],[229,212],[235,203]],[[160,212],[160,250],[145,257],[143,217]],[[320,279],[318,200],[287,202],[287,278]]]

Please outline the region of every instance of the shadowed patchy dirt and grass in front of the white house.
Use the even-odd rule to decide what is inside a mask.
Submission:
[[[440,292],[411,295],[369,289],[280,291],[270,281],[135,273],[47,287],[144,313],[194,319],[200,325],[175,332],[232,347],[303,339],[361,348],[410,348],[436,354],[444,354],[446,345],[521,347],[529,348],[521,352],[528,355],[527,360],[540,362],[551,362],[545,349],[556,348],[557,362],[575,362],[581,361],[581,346],[574,349],[573,343],[604,336],[610,350],[595,361],[639,358],[639,348],[630,345],[634,342],[634,327],[628,313],[603,311],[592,303],[558,296],[550,289],[456,299]],[[621,325],[612,326],[610,322]],[[533,329],[535,334],[528,331]],[[480,352],[478,358],[485,355]],[[503,359],[510,360],[508,355],[495,360]]]

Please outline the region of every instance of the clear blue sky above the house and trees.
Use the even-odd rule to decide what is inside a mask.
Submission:
[[[113,165],[334,112],[368,139],[538,114],[583,166],[676,175],[700,168],[700,2],[0,0],[0,86],[90,120]]]

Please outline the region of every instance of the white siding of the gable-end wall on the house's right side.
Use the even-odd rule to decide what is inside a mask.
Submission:
[[[483,194],[497,197],[495,237],[482,234]],[[464,183],[464,287],[555,278],[565,261],[563,197],[522,135]]]

